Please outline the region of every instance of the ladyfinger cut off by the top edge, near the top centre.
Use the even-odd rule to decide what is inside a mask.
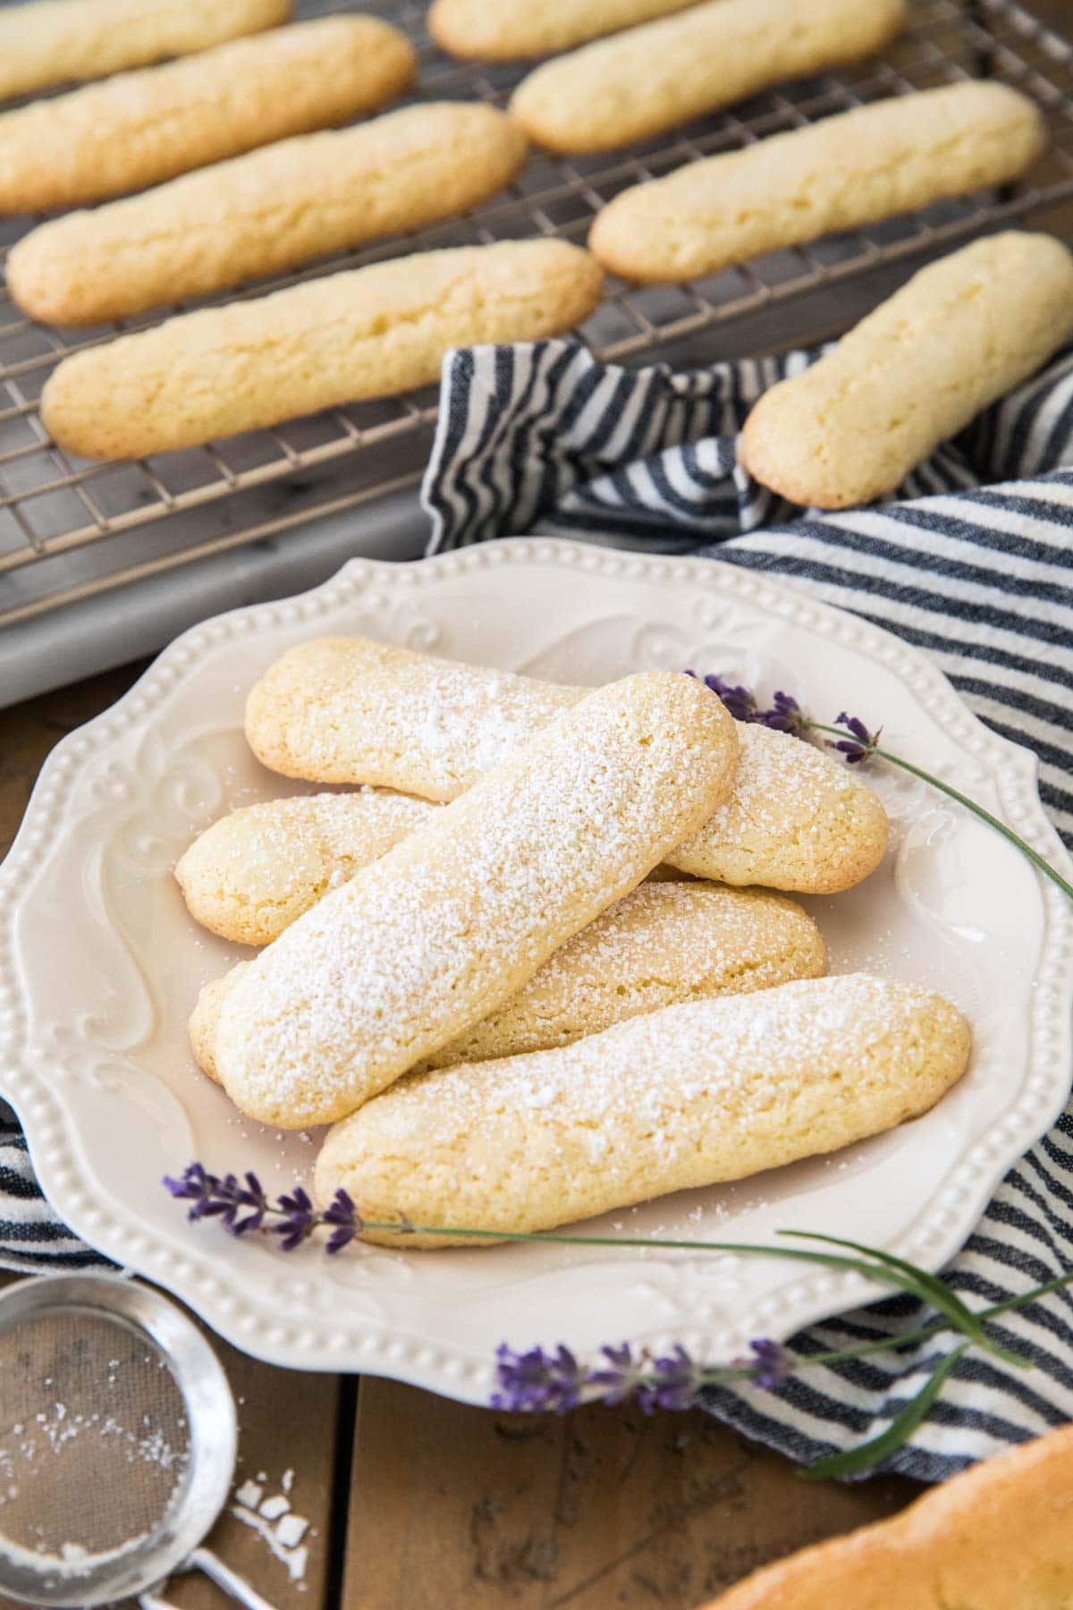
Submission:
[[[428,31],[452,56],[516,61],[552,56],[589,39],[682,11],[693,0],[434,0]]]

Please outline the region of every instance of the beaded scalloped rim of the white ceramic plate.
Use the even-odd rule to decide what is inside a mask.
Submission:
[[[780,580],[771,580],[766,573],[758,576],[734,565],[722,565],[717,560],[689,555],[645,555],[627,549],[605,549],[560,538],[521,536],[455,549],[407,565],[388,560],[351,559],[333,576],[306,592],[269,604],[251,604],[227,610],[222,615],[211,617],[188,628],[161,650],[153,665],[108,710],[100,712],[84,726],[66,734],[53,747],[37,778],[11,850],[5,861],[0,863],[0,897],[3,895],[6,881],[19,873],[23,858],[34,857],[35,847],[31,845],[27,848],[27,844],[35,836],[40,837],[39,818],[45,815],[40,799],[56,778],[68,770],[66,762],[71,750],[79,744],[85,744],[87,739],[93,742],[95,734],[97,741],[108,742],[113,718],[117,713],[130,715],[137,702],[146,700],[146,694],[150,696],[150,702],[140,712],[140,720],[148,728],[153,715],[153,702],[164,697],[182,679],[182,670],[175,662],[182,657],[183,649],[188,649],[195,639],[203,639],[206,631],[211,633],[212,628],[219,626],[227,628],[228,623],[243,620],[256,633],[259,628],[257,617],[261,617],[261,625],[273,626],[280,620],[278,612],[288,605],[306,599],[330,602],[333,594],[347,589],[356,591],[370,581],[373,584],[389,581],[415,589],[434,583],[441,575],[457,575],[467,570],[475,572],[512,564],[563,565],[566,568],[586,570],[590,575],[626,575],[648,581],[700,581],[713,596],[730,594],[732,597],[746,601],[754,609],[774,609],[780,618],[793,621],[803,630],[809,630],[811,621],[825,621],[825,634],[840,638],[854,652],[885,663],[894,670],[894,675],[898,675],[898,670],[891,667],[891,660],[904,662],[914,671],[915,687],[912,691],[920,692],[927,686],[933,699],[948,705],[962,734],[970,737],[970,749],[976,752],[976,757],[986,753],[989,758],[1004,763],[1005,771],[996,779],[996,786],[1005,794],[1009,792],[1005,784],[1009,784],[1022,795],[1018,802],[1023,816],[1018,821],[1020,831],[1026,837],[1034,837],[1036,847],[1042,847],[1065,868],[1073,866],[1042,810],[1038,792],[1039,763],[1033,750],[1001,737],[986,728],[962,700],[938,665],[894,633],[853,615],[849,610],[814,599],[804,591],[796,591]],[[405,581],[401,581],[402,576],[405,576]],[[100,736],[101,729],[103,737]],[[949,726],[946,728],[946,736],[959,752],[967,753],[964,744],[959,742]],[[1039,844],[1041,839],[1042,845]],[[42,852],[42,860],[45,853],[47,850]],[[1041,923],[1044,945],[1054,945],[1055,926],[1067,942],[1073,940],[1073,910],[1062,902],[1062,895],[1054,886],[1049,886],[1039,874],[1036,877],[1042,895]],[[10,902],[6,914],[3,905],[3,898],[0,898],[0,963],[5,960],[11,927],[21,910],[18,890]],[[1052,955],[1052,961],[1062,964],[1062,971],[1055,974],[1055,980],[1067,1011],[1062,1014],[1055,1013],[1059,1021],[1059,1043],[1052,1048],[1047,1059],[1050,1067],[1065,1069],[1073,1051],[1073,1022],[1068,1011],[1068,1006],[1073,1005],[1073,943],[1067,943],[1065,948],[1059,947]],[[3,976],[0,974],[2,985]],[[362,1373],[409,1381],[463,1402],[483,1402],[487,1399],[492,1383],[492,1364],[486,1354],[476,1354],[460,1344],[444,1348],[428,1338],[401,1333],[399,1327],[375,1320],[359,1320],[347,1327],[349,1346],[335,1348],[330,1357],[322,1352],[309,1356],[307,1349],[302,1351],[293,1343],[288,1344],[273,1338],[272,1327],[278,1314],[270,1298],[256,1301],[246,1293],[238,1296],[232,1314],[220,1315],[214,1312],[212,1299],[206,1296],[206,1291],[209,1286],[217,1288],[219,1285],[219,1257],[212,1256],[211,1243],[206,1245],[206,1251],[191,1251],[182,1240],[179,1228],[175,1233],[161,1233],[156,1227],[146,1227],[132,1235],[130,1228],[121,1219],[114,1217],[106,1208],[101,1208],[100,1199],[109,1201],[111,1193],[100,1174],[95,1174],[90,1162],[82,1156],[72,1121],[58,1100],[56,1092],[48,1085],[47,1069],[31,1069],[5,1063],[2,1061],[5,1050],[5,1042],[0,1037],[0,1096],[10,1101],[23,1122],[31,1161],[45,1196],[61,1212],[71,1230],[87,1243],[134,1274],[162,1285],[198,1312],[220,1336],[265,1362],[304,1370],[360,1370]],[[1031,1071],[1033,1058],[1030,1055],[1026,1080]],[[993,1148],[989,1161],[976,1164],[972,1185],[964,1191],[954,1222],[948,1228],[941,1245],[936,1245],[927,1259],[928,1267],[943,1267],[964,1245],[1001,1179],[1046,1133],[1062,1113],[1067,1100],[1068,1077],[1065,1072],[1060,1077],[1052,1074],[1047,1082],[1047,1098],[1042,1100],[1041,1093],[1031,1122],[1023,1122],[1017,1135],[1009,1133],[1007,1143],[1001,1150]],[[72,1195],[69,1183],[61,1183],[61,1180],[69,1182],[72,1174],[76,1183],[80,1187],[80,1195]],[[97,1203],[92,1199],[93,1195],[98,1198]],[[915,1220],[909,1222],[909,1227],[894,1245],[906,1241],[914,1224]],[[132,1243],[137,1248],[134,1256]],[[846,1307],[874,1301],[886,1291],[886,1288],[872,1286],[859,1277],[837,1277],[832,1280],[830,1275],[820,1275],[819,1272],[812,1282],[801,1277],[788,1277],[787,1285],[798,1286],[796,1293],[791,1293],[791,1312],[780,1315],[774,1322],[771,1319],[754,1320],[750,1314],[745,1314],[742,1325],[746,1331],[756,1333],[763,1328],[769,1335],[785,1338],[804,1325],[816,1323]]]

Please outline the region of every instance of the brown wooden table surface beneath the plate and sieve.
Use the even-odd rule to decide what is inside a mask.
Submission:
[[[0,857],[51,745],[142,670],[0,712]],[[212,1534],[278,1610],[692,1607],[915,1492],[898,1478],[806,1484],[785,1459],[698,1410],[500,1415],[373,1377],[306,1375],[224,1343],[217,1351],[240,1404],[236,1486],[249,1478],[278,1494],[293,1472],[293,1512],[310,1523],[301,1581],[238,1517],[225,1513]],[[171,1597],[187,1610],[222,1602],[195,1576]]]

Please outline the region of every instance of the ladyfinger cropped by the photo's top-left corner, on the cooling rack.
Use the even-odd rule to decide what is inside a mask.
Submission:
[[[211,50],[286,23],[290,0],[31,0],[0,11],[0,100]]]

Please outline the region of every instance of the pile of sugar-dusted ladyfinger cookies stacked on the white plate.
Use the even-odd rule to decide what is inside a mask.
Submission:
[[[325,638],[257,681],[246,737],[351,789],[238,810],[179,861],[191,914],[261,947],[191,1043],[248,1116],[333,1125],[325,1201],[544,1230],[833,1151],[965,1071],[948,1001],[825,977],[790,898],[877,868],[877,795],[693,676],[587,691]]]

